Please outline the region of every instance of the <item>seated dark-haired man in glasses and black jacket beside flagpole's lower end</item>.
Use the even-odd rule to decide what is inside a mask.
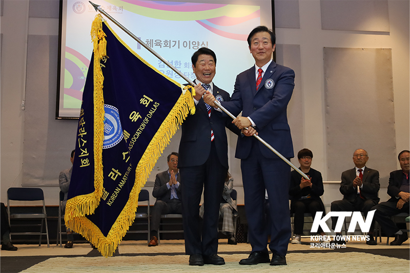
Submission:
[[[303,235],[304,213],[310,213],[312,217],[315,217],[316,212],[325,211],[322,199],[320,199],[324,192],[322,174],[311,168],[312,158],[313,153],[309,149],[302,149],[298,153],[299,169],[308,175],[310,180],[304,179],[296,171],[291,172],[289,195],[291,197],[291,213],[295,214],[295,238],[292,240],[292,244],[300,244],[300,238]],[[320,226],[318,232],[322,236],[325,235]]]

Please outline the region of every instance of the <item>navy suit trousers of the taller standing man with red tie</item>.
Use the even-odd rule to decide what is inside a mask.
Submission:
[[[265,219],[265,188],[270,203],[272,253],[285,256],[291,237],[289,211],[290,166],[280,158],[265,158],[253,138],[250,155],[241,160],[245,213],[248,219],[249,242],[252,252],[268,253],[267,223]]]

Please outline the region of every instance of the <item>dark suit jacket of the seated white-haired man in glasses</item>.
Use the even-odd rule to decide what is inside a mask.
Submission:
[[[340,182],[340,193],[343,200],[353,202],[357,196],[357,188],[353,187],[353,180],[356,178],[356,168],[344,171],[342,173],[342,182]],[[364,167],[363,188],[360,189],[361,195],[366,199],[375,200],[377,203],[380,198],[377,196],[380,183],[379,172],[368,167]]]

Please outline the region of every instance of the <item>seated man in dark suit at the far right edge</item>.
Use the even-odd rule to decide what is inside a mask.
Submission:
[[[407,233],[403,233],[396,224],[390,219],[391,216],[399,213],[409,213],[409,183],[408,173],[410,170],[410,152],[404,150],[399,154],[401,170],[390,173],[388,179],[387,194],[391,196],[387,202],[375,205],[374,219],[380,224],[381,229],[387,236],[395,236],[395,240],[390,245],[401,245],[407,241]]]

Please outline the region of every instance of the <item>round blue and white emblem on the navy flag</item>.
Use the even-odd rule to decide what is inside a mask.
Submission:
[[[124,135],[122,134],[118,109],[111,105],[104,104],[104,112],[103,149],[108,149],[117,145]]]

